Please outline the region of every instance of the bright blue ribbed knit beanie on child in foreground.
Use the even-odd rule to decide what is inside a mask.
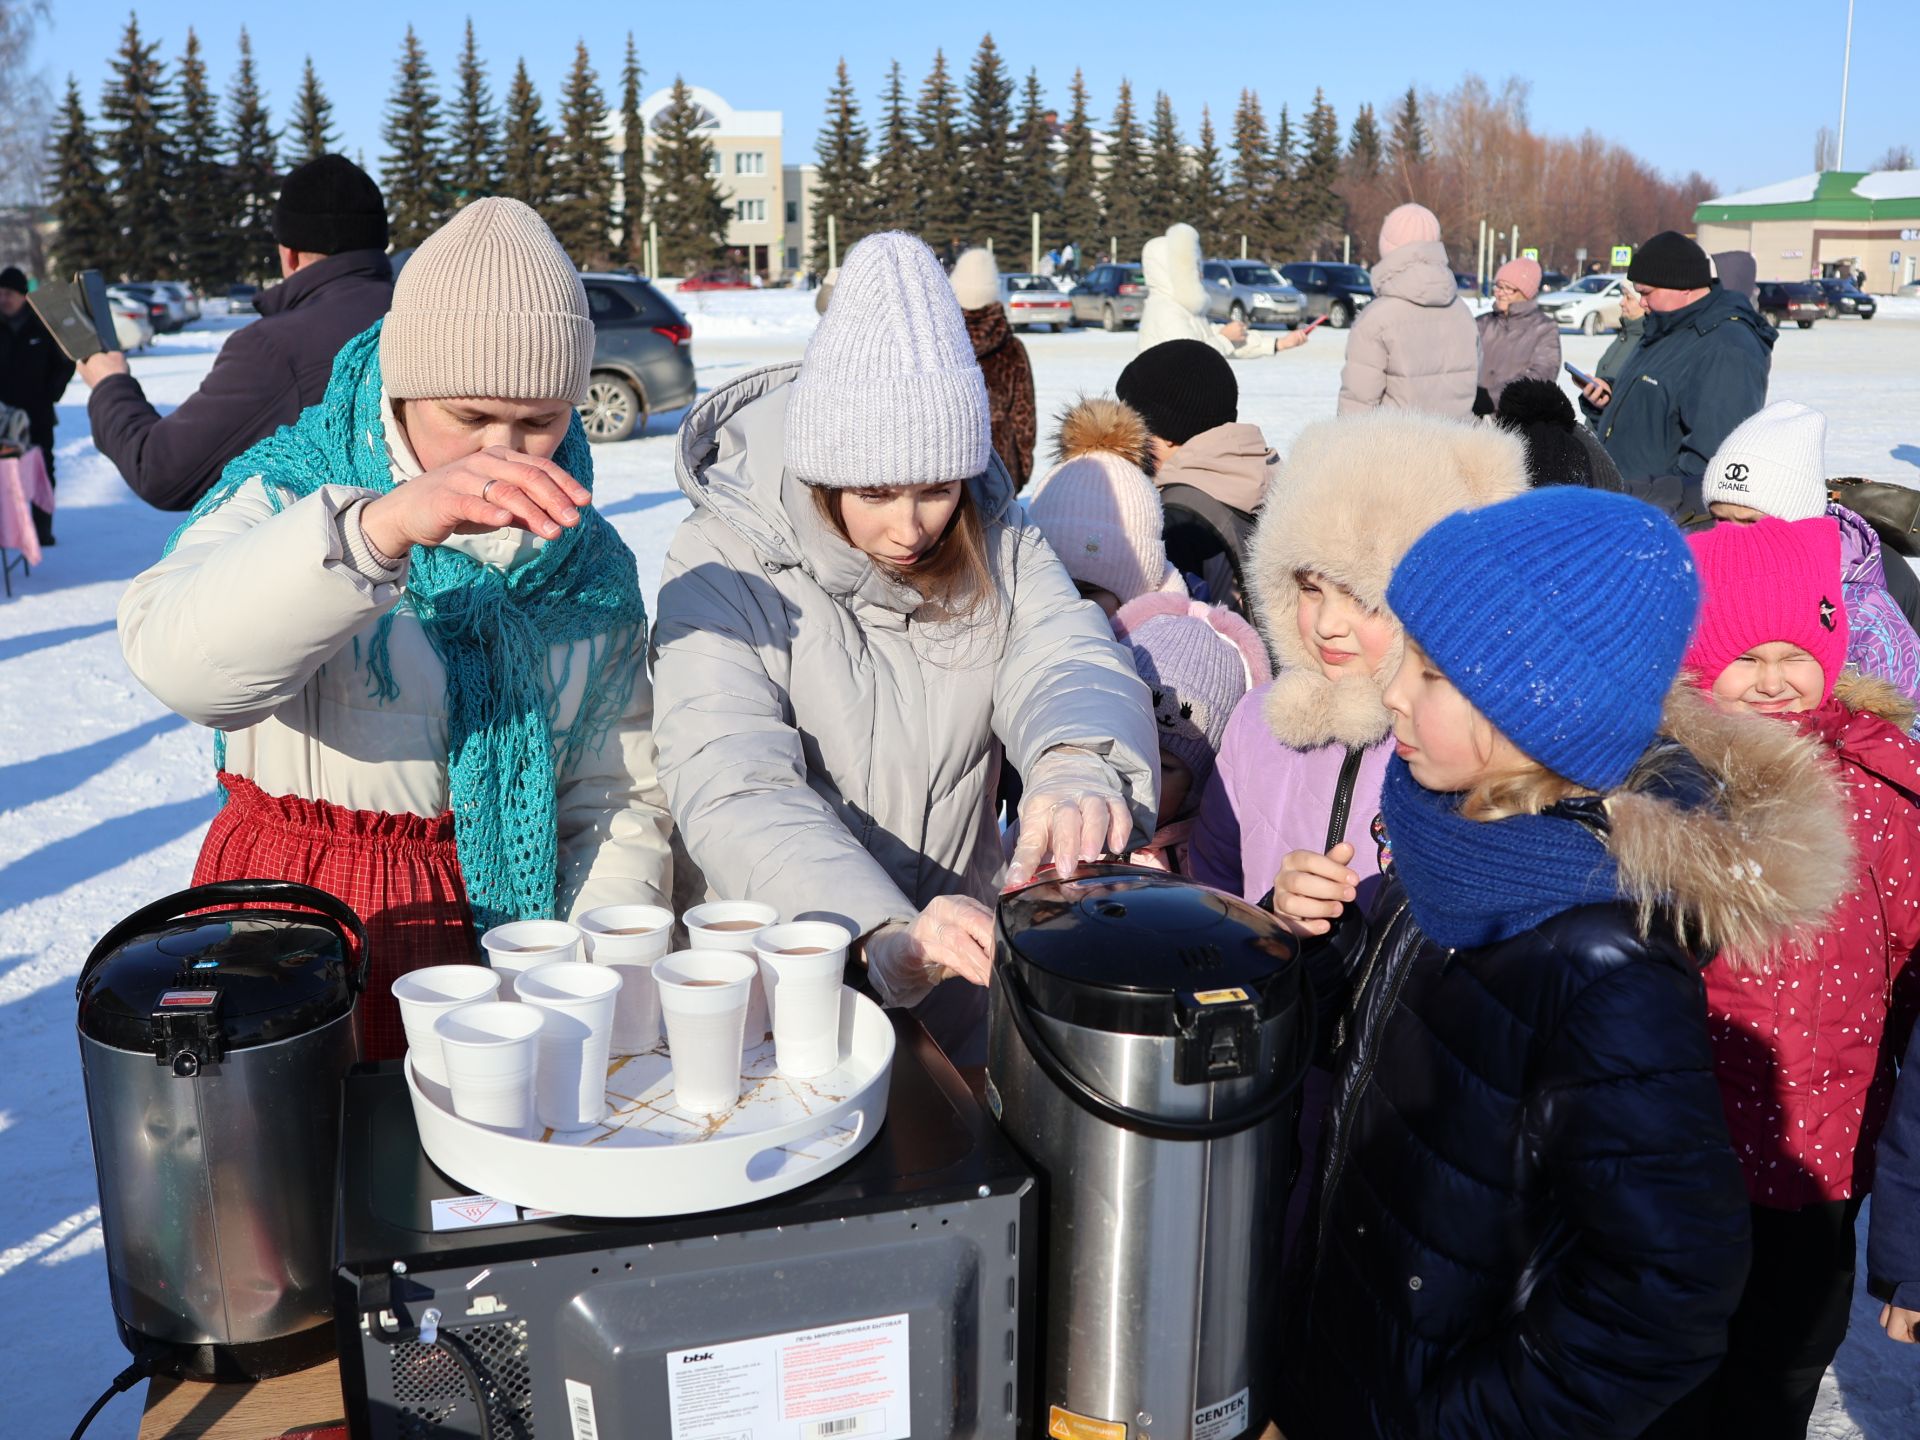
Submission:
[[[1609,791],[1659,730],[1699,580],[1661,511],[1555,486],[1450,515],[1400,561],[1386,603],[1507,739]]]

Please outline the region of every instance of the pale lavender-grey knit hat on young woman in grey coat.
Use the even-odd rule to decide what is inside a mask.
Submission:
[[[993,455],[987,380],[960,301],[910,234],[847,252],[787,397],[787,468],[814,486],[972,480]]]

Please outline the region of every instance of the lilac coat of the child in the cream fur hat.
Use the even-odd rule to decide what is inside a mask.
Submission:
[[[1348,755],[1344,745],[1296,751],[1275,739],[1265,718],[1269,689],[1271,684],[1248,691],[1227,722],[1187,856],[1188,874],[1202,885],[1254,902],[1273,889],[1288,852],[1327,849],[1327,826]],[[1380,781],[1392,753],[1390,737],[1369,745],[1354,776],[1346,841],[1354,847],[1350,868],[1359,876],[1361,906],[1380,883],[1371,828],[1380,812]]]

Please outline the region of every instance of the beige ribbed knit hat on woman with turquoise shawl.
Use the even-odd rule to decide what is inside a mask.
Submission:
[[[394,280],[380,380],[396,399],[588,396],[593,319],[580,273],[540,215],[476,200],[434,230]]]

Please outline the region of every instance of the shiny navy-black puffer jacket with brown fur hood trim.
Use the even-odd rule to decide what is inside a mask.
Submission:
[[[1724,1352],[1747,1194],[1672,925],[1805,924],[1851,856],[1812,745],[1680,705],[1690,751],[1740,756],[1699,791],[1740,791],[1622,797],[1607,845],[1628,895],[1684,920],[1644,933],[1630,900],[1584,904],[1446,950],[1392,881],[1363,943],[1313,947],[1340,1054],[1290,1286],[1288,1440],[1626,1440]],[[1730,881],[1747,862],[1791,893]]]

